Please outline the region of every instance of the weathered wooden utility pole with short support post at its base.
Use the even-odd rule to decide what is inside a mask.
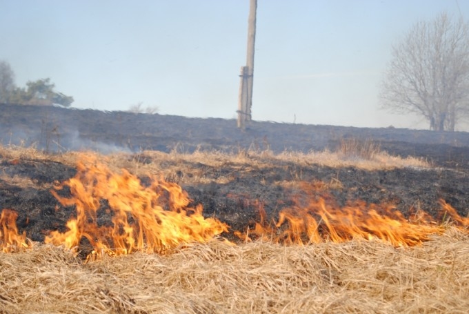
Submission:
[[[239,77],[239,99],[238,99],[238,128],[244,130],[246,123],[251,121],[252,86],[254,76],[254,50],[256,41],[256,11],[257,0],[250,0],[248,19],[248,54],[246,66],[241,67]]]

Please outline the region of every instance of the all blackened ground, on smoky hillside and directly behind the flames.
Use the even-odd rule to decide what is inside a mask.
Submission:
[[[245,230],[258,221],[259,203],[266,209],[269,220],[277,219],[279,210],[290,206],[292,195],[298,192],[288,184],[292,181],[329,184],[328,194],[341,206],[355,200],[369,204],[390,202],[404,214],[410,208],[419,208],[437,215],[438,201],[444,199],[460,215],[467,216],[469,212],[468,133],[268,122],[253,122],[247,130],[241,131],[234,120],[0,106],[0,134],[3,135],[0,138],[4,145],[33,145],[48,152],[86,148],[104,153],[143,149],[166,152],[217,149],[235,153],[248,149],[279,153],[288,149],[307,152],[325,148],[334,150],[341,139],[353,138],[372,140],[391,155],[423,157],[434,165],[427,170],[373,171],[315,164],[301,166],[280,160],[261,166],[252,163],[249,168],[230,163],[223,168],[202,163],[181,165],[181,169],[203,169],[204,176],[212,182],[188,184],[178,179],[184,177],[184,173],[170,179],[188,191],[193,204],[203,205],[204,215],[219,218],[228,223],[231,230]],[[59,203],[51,195],[50,188],[54,181],[73,177],[76,173],[73,167],[33,157],[11,161],[0,156],[0,171],[8,177],[30,179],[33,183],[19,188],[0,179],[0,209],[17,210],[20,231],[26,230],[31,239],[43,241],[49,230],[64,230],[74,209],[56,210]],[[219,177],[226,183],[216,183]],[[106,211],[102,213],[105,215]]]

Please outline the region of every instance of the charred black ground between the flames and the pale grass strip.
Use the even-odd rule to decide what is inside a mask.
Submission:
[[[0,156],[1,157],[1,156]],[[151,162],[146,160],[145,162]],[[279,210],[293,204],[292,197],[299,191],[292,182],[323,182],[327,194],[339,206],[363,200],[368,204],[391,203],[405,215],[410,208],[422,209],[437,216],[439,199],[457,208],[467,216],[469,208],[468,172],[451,168],[394,170],[361,170],[357,168],[331,168],[328,166],[300,166],[289,161],[270,160],[266,164],[253,163],[249,168],[226,163],[223,168],[186,161],[168,161],[182,171],[170,178],[188,192],[192,204],[202,204],[206,217],[217,217],[231,226],[231,231],[246,230],[259,221],[258,208],[263,204],[268,221],[277,220]],[[173,166],[168,164],[168,166]],[[12,177],[30,179],[33,184],[25,188],[8,184],[0,179],[0,208],[12,208],[19,213],[18,226],[26,230],[34,241],[43,241],[49,230],[65,230],[66,221],[74,215],[74,208],[62,208],[50,193],[55,181],[73,177],[76,170],[59,162],[23,158],[3,159],[1,169]],[[191,168],[192,167],[192,168]],[[203,168],[208,184],[187,184],[179,177],[190,176],[190,171]],[[223,177],[226,183],[216,183]],[[141,178],[143,184],[146,178]],[[313,189],[314,190],[314,189]],[[61,195],[67,196],[64,189]],[[324,190],[316,195],[323,196]],[[106,202],[103,202],[106,208]],[[60,207],[61,210],[56,210]],[[99,212],[99,221],[110,220],[106,210]],[[232,235],[226,235],[232,239]]]

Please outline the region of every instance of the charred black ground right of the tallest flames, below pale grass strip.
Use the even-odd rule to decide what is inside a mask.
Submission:
[[[225,168],[225,167],[224,167]],[[229,170],[228,166],[225,170]],[[210,168],[206,170],[206,175]],[[213,169],[214,177],[217,170]],[[362,200],[368,204],[390,203],[405,215],[410,209],[426,210],[437,217],[444,199],[466,216],[469,212],[469,175],[452,169],[418,170],[360,170],[357,168],[331,168],[327,166],[299,166],[293,163],[272,163],[243,171],[232,168],[227,184],[184,186],[194,203],[203,204],[206,215],[215,215],[232,226],[244,230],[259,221],[258,202],[262,202],[268,219],[277,219],[282,208],[292,205],[292,197],[299,191],[281,182],[323,182],[326,191],[317,196],[332,196],[339,206]],[[300,191],[301,193],[301,191]]]

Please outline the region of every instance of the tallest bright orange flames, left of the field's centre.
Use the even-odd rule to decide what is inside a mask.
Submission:
[[[66,232],[52,231],[45,242],[72,249],[86,239],[94,255],[165,253],[180,244],[207,242],[228,230],[219,220],[204,218],[201,206],[188,207],[190,199],[181,186],[150,179],[150,186],[143,186],[127,170],[112,173],[95,157],[83,156],[77,175],[56,188],[68,186],[71,197],[51,191],[63,206],[75,206],[77,217],[69,219]],[[107,224],[99,221],[100,210],[108,215]]]

